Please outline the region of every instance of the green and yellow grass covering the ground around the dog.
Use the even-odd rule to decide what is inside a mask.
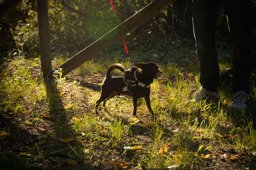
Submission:
[[[90,60],[71,74],[84,74],[86,81],[97,84],[113,62],[119,62],[119,59]],[[129,67],[127,60],[122,63]],[[236,115],[228,113],[227,104],[223,104],[230,96],[225,89],[221,89],[220,102],[193,103],[192,94],[200,88],[198,73],[170,62],[159,65],[163,78],[154,81],[150,87],[152,109],[159,115],[150,118],[145,101],[140,100],[138,116],[141,121],[138,123],[132,120],[129,97],[110,99],[107,110],[101,108],[100,116],[94,115],[93,108],[100,92],[82,87],[79,81],[63,78],[61,70],[55,73],[58,92],[47,96],[46,85],[38,70],[40,60],[15,57],[3,64],[1,117],[15,113],[20,117],[21,129],[45,129],[45,134],[41,133],[37,139],[45,143],[28,147],[24,152],[38,157],[36,161],[48,160],[49,165],[65,166],[67,159],[72,159],[76,163],[71,166],[79,164],[83,167],[113,168],[120,167],[120,162],[124,166],[126,162],[134,169],[195,169],[204,168],[205,162],[210,160],[225,164],[221,163],[225,159],[234,166],[255,168],[253,109],[239,115],[237,122]],[[255,88],[252,90],[253,103]],[[56,117],[45,120],[44,115],[54,117],[52,111],[58,113]],[[32,124],[28,125],[25,120]],[[143,125],[150,122],[153,126]],[[1,131],[14,133],[12,127],[6,125],[1,126]],[[1,141],[7,138],[8,135],[0,136]],[[72,140],[60,144],[60,138]],[[202,154],[209,154],[209,158]],[[229,156],[225,157],[225,154]]]

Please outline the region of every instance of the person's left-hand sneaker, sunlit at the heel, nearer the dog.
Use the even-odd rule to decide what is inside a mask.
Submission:
[[[207,101],[215,101],[220,99],[220,93],[219,92],[210,92],[209,90],[204,89],[204,87],[201,87],[198,91],[193,93],[193,101],[199,102],[203,100]]]

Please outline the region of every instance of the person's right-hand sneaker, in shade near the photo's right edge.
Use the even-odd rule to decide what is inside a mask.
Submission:
[[[230,103],[228,110],[243,112],[247,108],[248,100],[249,96],[246,92],[237,91],[232,94],[232,103]]]

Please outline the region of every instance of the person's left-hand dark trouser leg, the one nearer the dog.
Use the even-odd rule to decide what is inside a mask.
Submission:
[[[218,91],[220,69],[215,44],[215,30],[220,0],[193,0],[192,17],[196,52],[200,62],[200,83],[204,89]]]

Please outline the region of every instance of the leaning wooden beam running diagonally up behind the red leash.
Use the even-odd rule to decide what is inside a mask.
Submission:
[[[86,60],[92,59],[99,52],[110,46],[111,44],[118,41],[118,39],[122,38],[120,32],[122,34],[127,34],[131,32],[133,29],[136,29],[139,25],[145,23],[150,17],[153,17],[159,11],[163,10],[166,6],[173,3],[175,0],[155,0],[152,3],[148,4],[142,10],[138,11],[127,20],[122,22],[120,25],[116,26],[114,29],[109,31],[107,34],[102,36],[101,38],[94,41],[91,45],[87,46],[81,52],[77,53],[70,59],[68,59],[61,66],[56,67],[56,69],[63,69],[63,76],[70,73],[73,69],[76,69],[81,64],[86,62]]]

